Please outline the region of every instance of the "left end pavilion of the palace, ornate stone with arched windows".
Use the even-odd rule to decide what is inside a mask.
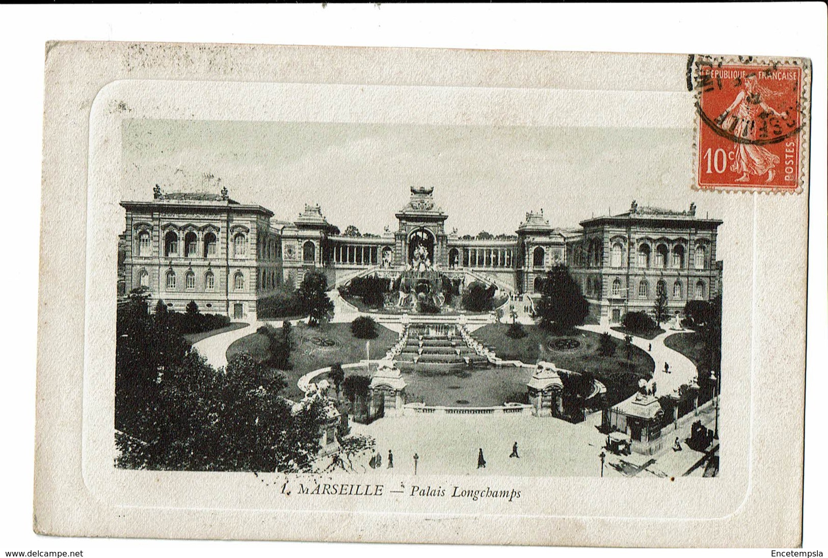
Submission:
[[[146,286],[152,303],[183,311],[256,316],[256,301],[282,284],[281,231],[269,209],[221,195],[163,194],[123,201],[124,290]]]

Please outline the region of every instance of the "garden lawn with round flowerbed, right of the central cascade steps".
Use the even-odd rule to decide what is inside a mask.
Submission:
[[[555,363],[558,368],[572,372],[590,372],[607,387],[609,405],[621,402],[638,390],[638,380],[652,378],[655,363],[650,355],[638,347],[630,346],[629,363],[627,349],[621,339],[612,339],[615,354],[605,357],[599,353],[601,335],[591,331],[573,330],[570,334],[556,335],[537,325],[524,326],[527,336],[522,339],[508,337],[508,325],[484,325],[472,332],[481,343],[489,345],[498,357],[536,363],[538,360]],[[551,349],[555,339],[577,339],[577,349]]]

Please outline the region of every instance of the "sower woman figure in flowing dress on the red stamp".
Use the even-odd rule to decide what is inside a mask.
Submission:
[[[750,175],[762,176],[768,173],[766,182],[773,180],[773,169],[779,164],[779,157],[766,148],[753,143],[760,125],[757,118],[761,113],[774,114],[787,118],[787,112],[779,113],[766,100],[779,96],[778,93],[758,84],[756,74],[748,75],[742,84],[742,90],[733,103],[716,118],[723,130],[740,137],[744,142],[734,143],[734,160],[730,171],[741,172],[737,182],[747,182]]]

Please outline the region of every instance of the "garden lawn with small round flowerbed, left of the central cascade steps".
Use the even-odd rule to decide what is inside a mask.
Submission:
[[[278,328],[277,334],[282,333]],[[377,325],[377,339],[371,339],[371,358],[382,358],[392,344],[397,342],[398,335],[392,330]],[[312,339],[322,338],[335,342],[335,346],[324,347],[316,344]],[[317,368],[324,368],[334,363],[355,363],[365,358],[366,339],[357,339],[351,334],[351,325],[345,324],[324,324],[319,327],[308,327],[306,324],[291,328],[291,370],[282,370],[287,381],[287,387],[282,395],[293,400],[301,399],[304,395],[296,381],[306,373]],[[238,353],[248,353],[258,362],[264,362],[270,358],[270,341],[267,335],[250,334],[230,344],[227,349],[227,358]],[[346,371],[347,374],[347,371]]]

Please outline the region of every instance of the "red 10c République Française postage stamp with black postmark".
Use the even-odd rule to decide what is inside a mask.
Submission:
[[[696,186],[802,191],[808,60],[696,60]]]

